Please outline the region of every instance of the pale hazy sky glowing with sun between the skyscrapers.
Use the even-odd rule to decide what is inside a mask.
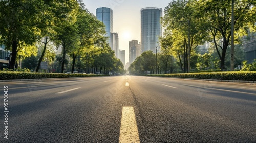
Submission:
[[[119,34],[119,49],[126,52],[125,62],[129,61],[129,41],[140,42],[140,9],[145,7],[157,7],[163,9],[172,0],[83,0],[86,8],[96,15],[99,7],[108,7],[113,10],[113,32]]]

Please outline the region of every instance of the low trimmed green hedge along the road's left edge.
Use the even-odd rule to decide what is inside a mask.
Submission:
[[[46,79],[46,78],[71,78],[71,77],[95,77],[95,76],[109,76],[96,74],[61,74],[61,73],[29,73],[29,72],[13,72],[0,71],[0,80],[14,80],[14,79]]]

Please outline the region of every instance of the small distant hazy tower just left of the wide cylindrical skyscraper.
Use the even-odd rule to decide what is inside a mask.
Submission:
[[[135,59],[140,55],[140,44],[138,40],[132,40],[129,42],[129,63],[133,63]]]

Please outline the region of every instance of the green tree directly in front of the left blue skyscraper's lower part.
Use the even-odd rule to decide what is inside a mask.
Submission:
[[[104,37],[106,32],[104,30],[103,23],[98,21],[92,13],[89,13],[87,10],[82,8],[79,10],[76,24],[78,28],[78,36],[80,37],[80,45],[76,47],[76,49],[73,49],[70,53],[73,59],[75,59],[78,55],[86,58],[87,64],[87,60],[89,59],[88,56],[93,56],[88,53],[95,54],[94,56],[97,56],[99,55],[100,50],[95,50],[95,47],[107,46],[106,38]],[[74,70],[74,61],[75,60],[73,60],[72,71]]]

